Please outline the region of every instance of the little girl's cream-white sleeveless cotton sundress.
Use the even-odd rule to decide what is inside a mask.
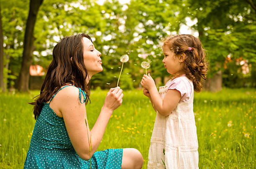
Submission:
[[[164,117],[156,112],[156,120],[148,153],[148,169],[198,169],[198,142],[195,117],[193,112],[194,87],[189,81],[192,92],[186,102],[178,103],[171,114]],[[165,86],[159,87],[164,99],[169,80]],[[163,153],[165,149],[165,155]]]

